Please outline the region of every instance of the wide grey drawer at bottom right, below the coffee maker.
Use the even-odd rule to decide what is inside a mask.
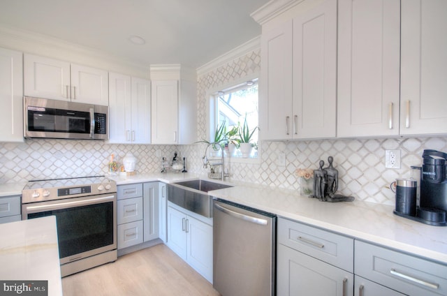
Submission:
[[[354,271],[406,295],[447,295],[447,265],[356,240]]]

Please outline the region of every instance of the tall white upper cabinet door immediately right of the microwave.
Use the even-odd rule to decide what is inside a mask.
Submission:
[[[129,143],[131,139],[131,77],[109,75],[109,142]]]

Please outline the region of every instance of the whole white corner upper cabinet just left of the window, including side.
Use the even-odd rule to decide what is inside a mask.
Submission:
[[[151,66],[152,144],[197,141],[196,72],[180,65]]]

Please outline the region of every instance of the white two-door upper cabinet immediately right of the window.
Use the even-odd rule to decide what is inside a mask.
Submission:
[[[336,135],[337,1],[319,2],[302,1],[263,24],[263,140]]]

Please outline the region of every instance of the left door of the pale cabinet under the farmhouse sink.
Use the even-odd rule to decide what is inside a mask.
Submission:
[[[186,215],[173,207],[168,207],[168,244],[166,245],[187,261]]]

